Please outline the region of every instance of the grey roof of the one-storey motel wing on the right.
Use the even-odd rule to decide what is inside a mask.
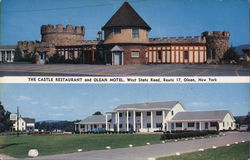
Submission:
[[[195,121],[195,120],[223,120],[227,114],[233,115],[228,110],[215,111],[188,111],[178,112],[173,118],[173,121]]]

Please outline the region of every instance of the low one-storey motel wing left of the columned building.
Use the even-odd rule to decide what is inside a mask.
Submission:
[[[108,115],[91,115],[75,123],[75,130],[79,132],[109,130],[111,117]]]

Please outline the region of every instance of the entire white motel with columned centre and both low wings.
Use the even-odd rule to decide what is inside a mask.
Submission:
[[[96,127],[117,132],[156,132],[236,128],[235,119],[228,110],[187,111],[179,101],[122,104],[107,111],[102,118],[96,120],[96,124],[93,123],[93,119],[95,119],[93,116],[87,117],[76,123],[76,130],[85,132]],[[89,124],[93,127],[86,128],[85,126]]]

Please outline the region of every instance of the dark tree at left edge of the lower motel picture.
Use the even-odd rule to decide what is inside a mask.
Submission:
[[[13,122],[10,121],[10,112],[4,109],[0,101],[0,132],[10,131]]]

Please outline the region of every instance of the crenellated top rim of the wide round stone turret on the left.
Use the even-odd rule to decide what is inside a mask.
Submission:
[[[73,26],[71,24],[66,25],[66,27],[63,27],[62,24],[57,24],[56,26],[48,24],[48,25],[42,25],[41,26],[41,34],[79,34],[84,35],[85,28],[84,26]]]

